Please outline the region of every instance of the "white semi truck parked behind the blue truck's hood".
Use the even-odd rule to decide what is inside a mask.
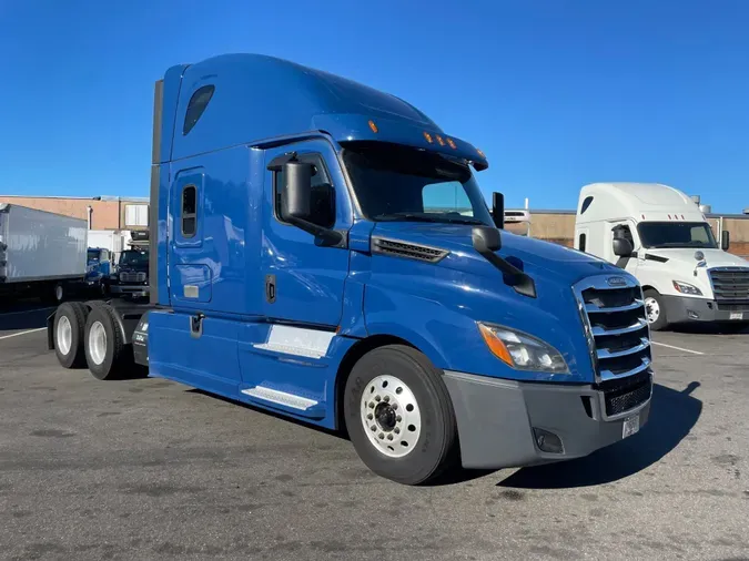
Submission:
[[[658,183],[593,183],[580,190],[575,248],[634,274],[650,328],[749,323],[749,262],[727,253],[697,203]]]

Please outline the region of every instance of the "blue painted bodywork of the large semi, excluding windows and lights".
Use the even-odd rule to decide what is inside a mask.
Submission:
[[[216,85],[186,135],[193,92]],[[377,132],[368,124],[373,120]],[[325,427],[336,424],[338,369],[356,341],[387,335],[423,350],[441,368],[485,376],[567,382],[594,379],[571,284],[623,272],[553,244],[503,233],[505,258],[528,273],[537,298],[517,294],[472,245],[472,227],[373,223],[358,212],[342,169],[342,145],[376,140],[473,161],[486,160],[392,95],[316,70],[260,55],[222,55],[170,69],[164,76],[159,175],[159,303],[151,313],[153,376],[281,411]],[[290,151],[315,152],[335,192],[335,228],[347,247],[322,247],[274,213],[269,163]],[[181,196],[198,190],[196,230],[181,231]],[[439,263],[370,252],[373,235],[449,251]],[[269,302],[267,275],[275,278]],[[186,289],[185,289],[186,287]],[[204,315],[202,334],[191,317]],[[476,322],[522,329],[556,347],[569,375],[513,370],[489,353]],[[273,324],[336,330],[317,358],[262,347]],[[260,345],[260,346],[259,346]],[[314,401],[300,411],[242,390],[261,386]]]

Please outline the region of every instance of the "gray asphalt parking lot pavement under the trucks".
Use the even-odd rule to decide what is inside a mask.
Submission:
[[[749,559],[749,335],[655,334],[623,442],[411,488],[336,435],[65,370],[49,312],[0,313],[0,559]]]

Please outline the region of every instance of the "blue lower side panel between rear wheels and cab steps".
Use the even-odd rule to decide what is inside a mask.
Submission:
[[[150,312],[151,376],[236,399],[241,381],[236,343],[242,324],[205,317],[202,334],[195,337],[190,318],[189,314]]]

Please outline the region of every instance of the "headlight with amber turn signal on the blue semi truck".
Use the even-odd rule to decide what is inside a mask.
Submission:
[[[569,374],[559,351],[536,337],[483,322],[478,322],[478,330],[489,350],[516,370]]]

